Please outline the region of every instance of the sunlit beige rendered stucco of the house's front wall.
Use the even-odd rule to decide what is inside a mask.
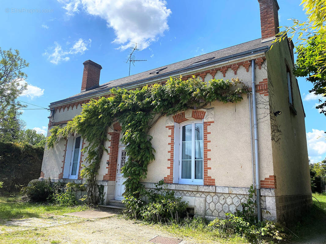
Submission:
[[[248,59],[248,58],[246,58]],[[266,63],[266,62],[265,62]],[[262,81],[267,77],[266,65],[262,65],[259,69],[256,66],[256,80]],[[214,67],[213,67],[214,68]],[[207,69],[207,68],[206,68]],[[221,72],[215,74],[216,79],[231,79],[239,77],[242,82],[251,86],[251,66],[248,72],[245,67],[240,66],[237,70],[237,74],[234,74],[232,69],[226,71],[226,77],[223,77]],[[205,76],[205,81],[212,79],[211,74]],[[266,99],[268,97],[257,93],[259,112],[259,156],[261,162],[261,178],[268,177],[273,173],[272,164],[272,150],[271,150],[271,136],[270,136],[270,124],[269,117],[266,114],[269,113],[268,104],[266,105]],[[208,140],[211,142],[208,145],[208,149],[211,151],[208,153],[208,157],[211,160],[208,162],[208,166],[212,169],[209,170],[208,175],[215,179],[216,185],[234,186],[234,187],[249,187],[252,184],[252,159],[251,159],[251,145],[250,145],[250,115],[249,115],[249,100],[246,95],[244,99],[239,103],[227,103],[213,102],[206,106],[206,108],[214,109],[214,123],[208,127],[208,131],[211,132],[208,135]],[[190,111],[190,112],[189,112]],[[191,114],[191,110],[186,114]],[[78,105],[71,109],[61,109],[56,111],[53,122],[60,122],[72,119],[75,115],[81,112],[81,106]],[[157,182],[163,179],[169,174],[169,158],[168,151],[170,150],[170,138],[169,129],[166,126],[169,124],[167,121],[169,118],[160,118],[155,126],[150,130],[150,134],[153,136],[152,145],[156,150],[155,161],[148,166],[147,179],[145,182]],[[112,129],[108,130],[108,133],[112,132]],[[110,135],[108,135],[110,140]],[[62,147],[63,145],[59,145]],[[110,146],[109,141],[106,142],[106,148]],[[54,150],[54,149],[50,149]],[[49,154],[49,153],[48,153]],[[47,177],[49,171],[49,165],[57,165],[56,169],[51,168],[52,177],[57,178],[61,172],[63,158],[57,158],[53,156],[55,152],[49,156],[45,156],[44,173]],[[62,153],[61,153],[62,155]],[[107,160],[109,156],[107,153],[103,154],[98,180],[103,180],[103,176],[107,173]],[[49,168],[49,169],[48,169]],[[112,190],[113,191],[113,190]]]

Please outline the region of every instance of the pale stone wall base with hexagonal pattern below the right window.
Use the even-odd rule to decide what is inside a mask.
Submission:
[[[144,183],[145,188],[154,189],[155,183]],[[248,200],[249,188],[205,185],[167,184],[175,196],[183,197],[197,216],[209,220],[225,218],[228,212],[242,210],[241,203]],[[261,207],[265,220],[276,220],[274,189],[261,189]],[[267,211],[268,212],[267,212]]]

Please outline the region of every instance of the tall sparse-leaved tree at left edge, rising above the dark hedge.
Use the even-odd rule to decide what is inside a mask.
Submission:
[[[26,90],[27,75],[22,69],[28,67],[19,51],[0,48],[0,140],[14,141],[21,128],[19,108],[24,107],[16,99]]]

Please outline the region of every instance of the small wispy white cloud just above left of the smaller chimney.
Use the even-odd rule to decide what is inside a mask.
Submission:
[[[68,61],[69,56],[76,54],[84,54],[88,47],[90,47],[92,40],[83,40],[82,38],[75,41],[72,47],[67,50],[63,50],[61,45],[57,42],[54,42],[54,47],[49,48],[50,51],[46,50],[44,55],[48,56],[48,60],[54,64],[58,64],[62,61]],[[67,44],[70,44],[67,42]]]

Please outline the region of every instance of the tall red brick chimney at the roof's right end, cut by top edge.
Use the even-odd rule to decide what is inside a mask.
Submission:
[[[258,0],[260,7],[261,42],[273,40],[279,33],[277,0]]]

